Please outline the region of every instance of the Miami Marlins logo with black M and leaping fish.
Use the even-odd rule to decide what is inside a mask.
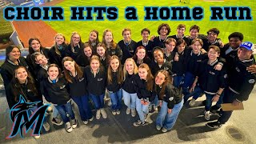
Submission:
[[[20,95],[18,103],[10,110],[10,119],[13,122],[13,126],[10,135],[6,138],[14,138],[18,132],[23,138],[23,126],[25,127],[25,133],[31,128],[32,136],[40,134],[46,110],[50,105],[44,105],[36,109],[38,103],[39,102],[26,102],[26,99]],[[33,114],[31,114],[31,110],[35,110]],[[32,128],[32,126],[34,127]]]

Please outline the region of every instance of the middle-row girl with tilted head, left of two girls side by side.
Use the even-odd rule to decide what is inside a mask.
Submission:
[[[90,65],[90,58],[93,55],[93,48],[89,43],[85,43],[82,54],[75,60],[79,66],[86,67]]]

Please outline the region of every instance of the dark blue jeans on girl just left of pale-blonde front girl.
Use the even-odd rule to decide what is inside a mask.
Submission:
[[[122,89],[117,92],[110,92],[110,98],[112,102],[112,110],[120,110],[122,106]]]

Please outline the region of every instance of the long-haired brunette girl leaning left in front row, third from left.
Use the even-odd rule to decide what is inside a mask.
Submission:
[[[89,106],[89,96],[86,91],[85,68],[78,66],[74,59],[65,57],[62,59],[64,75],[70,87],[70,96],[78,105],[79,113],[84,124],[94,119]]]

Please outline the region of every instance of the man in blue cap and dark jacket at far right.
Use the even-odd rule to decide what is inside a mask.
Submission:
[[[223,103],[232,103],[234,106],[241,105],[241,102],[249,98],[254,89],[256,74],[246,70],[246,67],[254,65],[254,44],[252,42],[242,42],[238,48],[238,56],[234,57],[230,63],[230,72],[227,77],[227,86],[224,90]],[[208,122],[206,126],[219,128],[225,124],[233,111],[222,111],[221,117],[216,122]]]

